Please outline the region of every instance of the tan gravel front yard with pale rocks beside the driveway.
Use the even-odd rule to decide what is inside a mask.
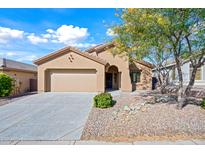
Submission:
[[[82,140],[136,141],[205,139],[205,110],[187,105],[146,104],[139,94],[115,96],[112,108],[93,108]]]

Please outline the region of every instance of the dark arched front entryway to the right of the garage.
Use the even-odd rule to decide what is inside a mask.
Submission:
[[[105,73],[106,90],[118,90],[120,86],[120,73],[114,65],[110,66]]]

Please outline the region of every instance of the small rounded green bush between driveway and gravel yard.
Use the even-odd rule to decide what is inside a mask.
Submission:
[[[108,108],[113,106],[112,96],[109,93],[101,93],[94,97],[94,106],[97,108]]]

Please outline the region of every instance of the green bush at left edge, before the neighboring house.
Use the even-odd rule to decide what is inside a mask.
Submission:
[[[4,74],[0,73],[0,97],[9,96],[13,90],[13,79]]]

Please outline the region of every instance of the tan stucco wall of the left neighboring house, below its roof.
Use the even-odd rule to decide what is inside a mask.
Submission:
[[[30,90],[30,79],[37,79],[37,72],[33,73],[15,70],[4,70],[2,72],[20,82],[18,86],[20,87],[19,90],[21,94]]]

